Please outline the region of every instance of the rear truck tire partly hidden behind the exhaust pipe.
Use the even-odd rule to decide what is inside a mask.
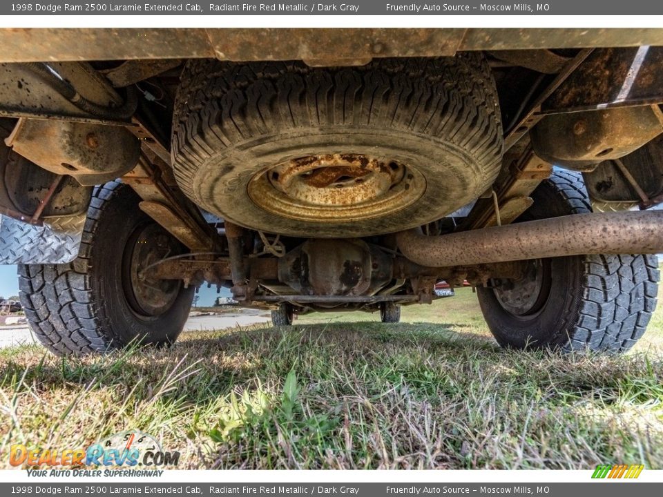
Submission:
[[[591,212],[579,173],[555,171],[519,220]],[[624,352],[642,337],[656,306],[655,255],[576,255],[530,264],[513,284],[479,288],[479,304],[503,347]]]

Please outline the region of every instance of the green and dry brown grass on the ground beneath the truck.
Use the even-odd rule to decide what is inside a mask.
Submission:
[[[140,429],[180,468],[663,468],[661,309],[624,356],[501,350],[466,289],[403,309],[410,323],[376,319],[316,314],[97,358],[3,349],[0,466],[11,443]]]

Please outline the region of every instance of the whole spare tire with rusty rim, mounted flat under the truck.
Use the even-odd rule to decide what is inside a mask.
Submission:
[[[173,116],[177,183],[267,233],[359,237],[421,226],[477,198],[500,167],[497,90],[479,53],[189,61]]]

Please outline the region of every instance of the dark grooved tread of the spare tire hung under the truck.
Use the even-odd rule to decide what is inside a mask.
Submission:
[[[502,129],[490,67],[480,54],[461,53],[356,68],[193,59],[173,113],[175,177],[200,204],[195,177],[211,155],[276,130],[338,124],[443,138],[472,153],[482,184],[499,173]]]

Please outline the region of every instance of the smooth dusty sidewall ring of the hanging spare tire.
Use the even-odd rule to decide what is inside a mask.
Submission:
[[[356,153],[394,160],[415,168],[425,177],[423,195],[410,206],[389,215],[347,222],[311,222],[268,213],[249,197],[247,186],[271,166],[307,155]],[[197,202],[222,199],[227,219],[270,233],[316,237],[365,236],[421,226],[449,212],[432,206],[439,199],[465,205],[480,195],[488,181],[480,161],[450,142],[394,129],[336,126],[309,128],[297,133],[265,135],[222,150],[209,158],[193,179]],[[471,171],[471,173],[469,172]]]

